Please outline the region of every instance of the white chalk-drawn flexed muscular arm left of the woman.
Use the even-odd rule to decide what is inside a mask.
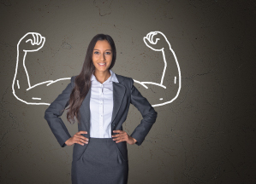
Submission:
[[[29,105],[50,105],[50,103],[46,103],[47,98],[43,98],[42,91],[44,95],[47,95],[45,89],[46,87],[49,89],[51,83],[57,83],[61,80],[70,79],[59,78],[55,81],[49,80],[31,86],[27,67],[25,65],[26,56],[30,52],[36,52],[43,48],[44,44],[45,37],[42,37],[38,32],[27,32],[27,34],[21,37],[17,44],[17,60],[12,90],[17,100]]]

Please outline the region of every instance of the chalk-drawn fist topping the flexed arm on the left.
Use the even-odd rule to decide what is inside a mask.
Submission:
[[[45,44],[45,37],[42,37],[38,32],[27,32],[26,35],[21,37],[17,44],[18,49],[24,52],[36,52],[41,49]]]

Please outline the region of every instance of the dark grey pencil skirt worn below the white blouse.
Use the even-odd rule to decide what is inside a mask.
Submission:
[[[72,161],[72,184],[127,184],[128,160],[112,138],[90,137],[80,159]]]

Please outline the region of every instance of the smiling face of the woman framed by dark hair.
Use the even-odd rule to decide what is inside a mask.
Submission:
[[[105,72],[112,62],[112,49],[107,40],[98,40],[92,53],[92,62],[95,72]]]

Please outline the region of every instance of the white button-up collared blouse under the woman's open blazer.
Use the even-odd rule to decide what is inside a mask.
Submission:
[[[111,138],[111,118],[113,112],[113,82],[119,83],[116,74],[110,70],[110,78],[99,83],[92,73],[90,98],[90,136]]]

